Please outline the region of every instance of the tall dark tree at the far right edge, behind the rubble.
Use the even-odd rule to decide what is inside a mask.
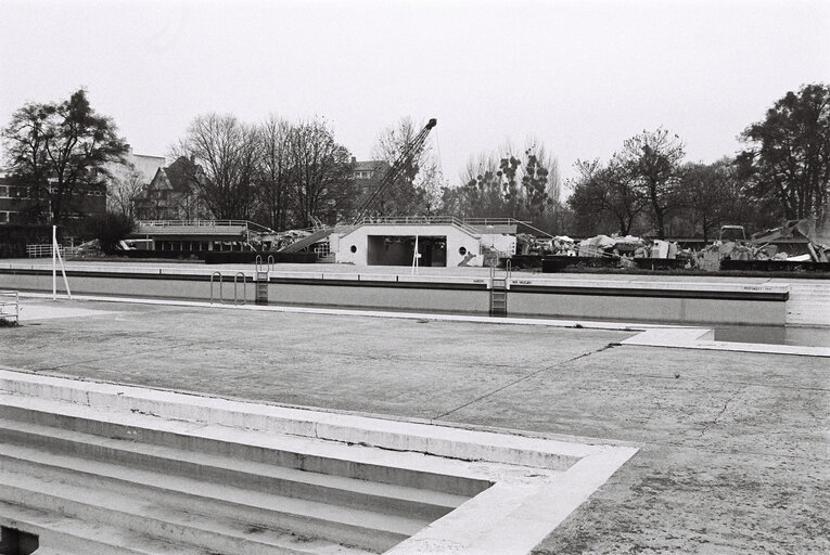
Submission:
[[[787,219],[827,218],[830,199],[830,86],[788,92],[752,124],[739,155],[758,198],[775,198]]]

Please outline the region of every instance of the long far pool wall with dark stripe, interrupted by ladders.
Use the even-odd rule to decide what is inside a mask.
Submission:
[[[243,284],[242,279],[245,279]],[[213,284],[212,284],[213,275]],[[234,276],[237,291],[234,295]],[[73,293],[226,302],[255,300],[253,272],[210,269],[68,270]],[[783,325],[787,285],[511,279],[508,314],[668,323]],[[63,289],[59,274],[59,291]],[[220,291],[221,287],[221,291]],[[51,270],[0,268],[0,288],[51,292]],[[486,314],[488,279],[272,272],[269,304]],[[221,293],[221,295],[220,295]]]

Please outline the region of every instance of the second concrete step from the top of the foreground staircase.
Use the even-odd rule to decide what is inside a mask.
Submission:
[[[157,483],[155,476],[164,473],[171,477],[195,478],[238,489],[424,521],[440,518],[469,499],[464,495],[309,473],[15,421],[0,421],[0,441],[12,443],[0,453],[0,457],[56,466],[67,472],[94,469],[102,476],[127,481],[144,478],[145,486]],[[125,468],[130,469],[126,476]],[[138,472],[140,469],[146,470],[148,475]]]

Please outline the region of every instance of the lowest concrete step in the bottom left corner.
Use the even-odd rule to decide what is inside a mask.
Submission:
[[[130,530],[3,501],[0,525],[38,535],[40,547],[36,555],[218,555],[182,542],[155,540]]]

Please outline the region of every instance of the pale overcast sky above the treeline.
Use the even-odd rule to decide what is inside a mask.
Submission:
[[[506,141],[564,178],[663,126],[690,160],[789,90],[830,82],[830,1],[0,0],[0,122],[84,86],[138,154],[194,116],[324,116],[367,159],[401,116],[438,119],[452,184]]]

